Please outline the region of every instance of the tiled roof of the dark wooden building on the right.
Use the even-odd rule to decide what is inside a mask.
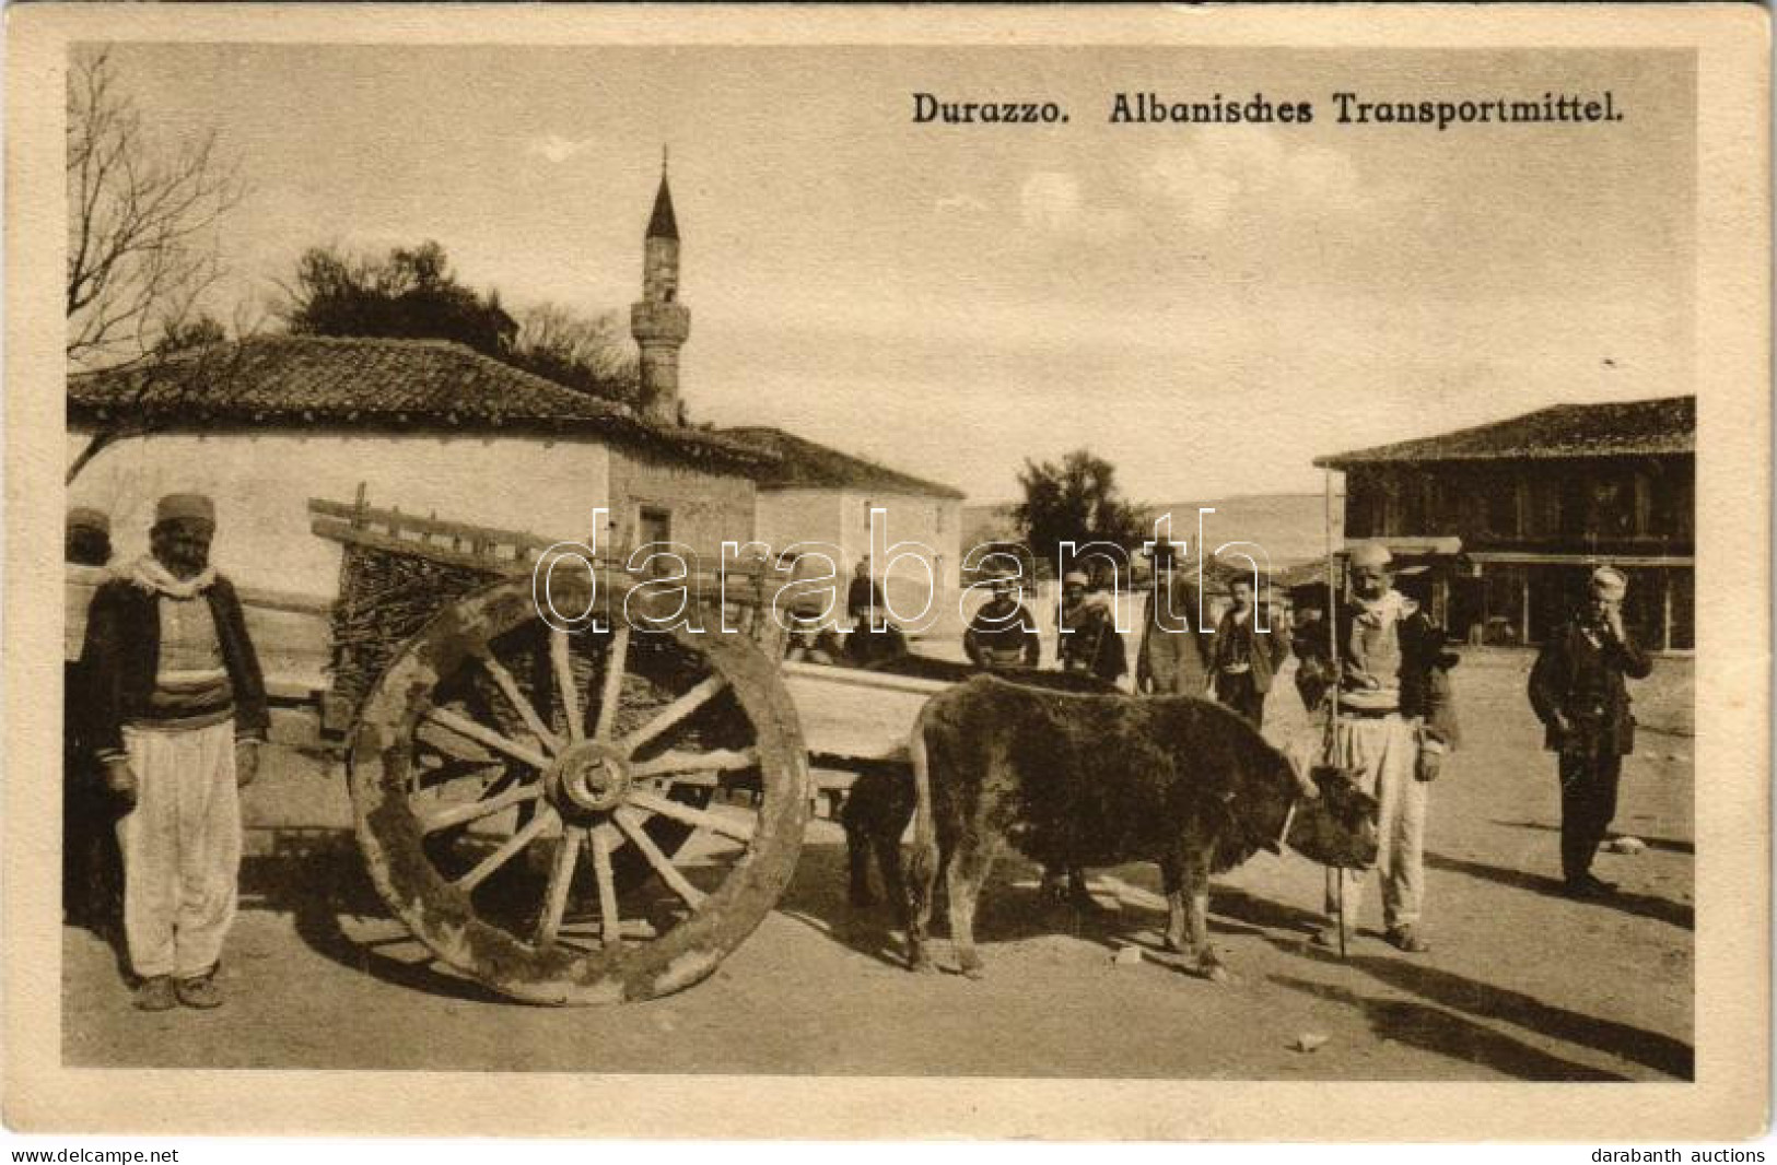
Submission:
[[[1317,456],[1315,465],[1347,469],[1375,462],[1651,456],[1695,449],[1697,398],[1663,396],[1605,405],[1553,405],[1454,433]]]

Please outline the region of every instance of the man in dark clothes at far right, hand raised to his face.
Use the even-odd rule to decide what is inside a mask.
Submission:
[[[1622,627],[1628,577],[1599,567],[1590,598],[1550,636],[1530,670],[1530,707],[1544,746],[1560,755],[1560,867],[1567,893],[1599,899],[1615,890],[1592,874],[1592,858],[1617,815],[1622,758],[1635,751],[1635,717],[1622,677],[1647,678],[1653,661]]]

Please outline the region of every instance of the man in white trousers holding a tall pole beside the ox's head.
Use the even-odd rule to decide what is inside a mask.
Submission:
[[[1430,783],[1457,742],[1443,632],[1393,588],[1393,556],[1381,543],[1351,552],[1352,602],[1340,614],[1340,717],[1331,764],[1351,771],[1379,803],[1375,856],[1383,877],[1384,938],[1407,954],[1430,950],[1425,899],[1425,812]],[[1336,886],[1333,879],[1343,877]],[[1365,870],[1327,870],[1327,925],[1315,941],[1340,947],[1356,931]],[[1335,893],[1335,892],[1340,893]]]

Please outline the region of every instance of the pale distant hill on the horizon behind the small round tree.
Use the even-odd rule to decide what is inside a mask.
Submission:
[[[1326,554],[1326,501],[1320,494],[1247,494],[1244,497],[1217,497],[1210,501],[1180,501],[1150,504],[1155,515],[1173,515],[1173,538],[1192,543],[1196,558],[1198,508],[1214,510],[1203,517],[1208,549],[1226,542],[1256,542],[1271,554],[1271,565],[1283,570],[1294,563]],[[963,547],[995,538],[1011,538],[1013,503],[963,506]],[[1345,499],[1333,497],[1333,536],[1343,535]]]

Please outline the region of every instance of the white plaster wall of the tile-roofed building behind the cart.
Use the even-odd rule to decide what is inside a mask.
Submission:
[[[69,433],[69,462],[85,437]],[[339,547],[309,533],[311,497],[586,540],[608,504],[606,448],[528,437],[407,433],[156,433],[96,456],[69,487],[69,506],[112,515],[114,561],[147,551],[163,494],[217,503],[213,558],[236,582],[332,598]]]

